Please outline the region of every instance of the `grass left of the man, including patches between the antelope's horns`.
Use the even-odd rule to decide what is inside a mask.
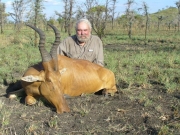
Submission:
[[[62,34],[62,37],[65,35]],[[0,37],[0,84],[9,84],[19,80],[29,66],[41,61],[41,57],[38,47],[34,46],[33,31],[30,28],[18,34],[8,30]],[[54,41],[52,30],[46,32],[46,41],[49,51]]]

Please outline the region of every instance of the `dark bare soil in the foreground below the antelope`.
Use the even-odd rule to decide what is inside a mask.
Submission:
[[[43,99],[34,106],[26,106],[24,97],[10,100],[2,96],[0,100],[10,115],[7,123],[0,116],[0,135],[180,134],[179,92],[166,93],[164,86],[156,82],[150,88],[128,89],[122,82],[117,86],[118,93],[113,97],[97,93],[67,98],[71,112],[64,114],[57,114]],[[1,88],[0,95],[8,87]]]

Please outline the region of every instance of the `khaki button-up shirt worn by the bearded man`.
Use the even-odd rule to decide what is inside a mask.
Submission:
[[[91,35],[84,46],[78,44],[76,35],[66,38],[58,47],[58,54],[74,59],[84,59],[104,66],[102,41]]]

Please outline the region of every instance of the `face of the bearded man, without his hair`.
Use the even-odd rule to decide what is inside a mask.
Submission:
[[[76,36],[80,42],[86,42],[90,38],[91,30],[85,22],[78,24]]]

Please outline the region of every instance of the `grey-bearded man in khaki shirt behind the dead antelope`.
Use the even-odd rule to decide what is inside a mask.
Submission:
[[[58,54],[74,59],[84,59],[104,66],[102,41],[91,35],[91,23],[87,19],[77,21],[76,35],[66,38],[58,47]]]

